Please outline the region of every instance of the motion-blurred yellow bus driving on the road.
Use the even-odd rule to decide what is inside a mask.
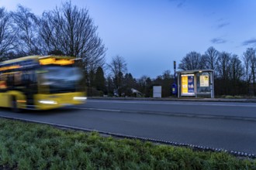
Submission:
[[[78,59],[24,56],[0,63],[0,107],[49,110],[84,104],[83,73]]]

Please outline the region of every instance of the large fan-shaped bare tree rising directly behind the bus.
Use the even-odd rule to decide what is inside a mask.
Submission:
[[[105,62],[106,48],[96,33],[86,8],[79,9],[64,3],[61,8],[44,12],[40,22],[40,36],[47,53],[61,51],[64,55],[82,59],[87,73],[95,73]]]

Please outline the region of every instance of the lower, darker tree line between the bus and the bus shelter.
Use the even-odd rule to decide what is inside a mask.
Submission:
[[[88,87],[89,96],[116,96],[116,97],[152,97],[153,87],[162,87],[162,97],[170,97],[171,84],[175,82],[170,70],[151,79],[149,76],[133,78],[127,70],[127,63],[123,56],[114,56],[106,64],[106,77],[102,67],[91,74],[92,86]]]

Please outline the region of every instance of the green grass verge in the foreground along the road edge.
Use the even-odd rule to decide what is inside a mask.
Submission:
[[[256,160],[0,118],[0,169],[256,169]]]

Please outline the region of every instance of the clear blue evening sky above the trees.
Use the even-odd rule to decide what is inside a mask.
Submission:
[[[21,4],[36,15],[60,6],[64,0],[0,0],[0,6],[16,10]],[[255,0],[72,0],[88,8],[99,26],[106,61],[126,59],[133,77],[156,78],[164,70],[173,73],[189,52],[205,53],[209,46],[242,56],[256,47]]]

